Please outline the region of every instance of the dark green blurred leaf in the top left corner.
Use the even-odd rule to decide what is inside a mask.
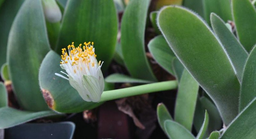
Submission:
[[[4,0],[2,6],[0,6],[0,67],[6,62],[6,48],[9,31],[14,17],[23,2],[24,0]]]

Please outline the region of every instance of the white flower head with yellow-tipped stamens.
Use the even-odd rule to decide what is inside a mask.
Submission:
[[[67,73],[60,71],[67,77],[55,73],[55,75],[69,80],[69,83],[74,87],[79,95],[85,101],[99,102],[100,96],[104,90],[104,79],[100,67],[103,62],[97,61],[94,53],[93,42],[86,43],[84,46],[80,44],[78,47],[68,45],[62,49],[60,67],[66,70]]]

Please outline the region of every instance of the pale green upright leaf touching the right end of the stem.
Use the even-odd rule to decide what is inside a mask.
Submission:
[[[178,87],[174,119],[189,131],[192,129],[198,89],[197,81],[185,69]]]

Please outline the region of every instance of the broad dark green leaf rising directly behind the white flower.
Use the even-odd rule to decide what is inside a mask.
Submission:
[[[94,42],[97,59],[104,61],[104,71],[114,56],[117,23],[116,8],[112,0],[69,0],[55,51],[60,54],[61,49],[71,42],[75,42],[76,46]]]

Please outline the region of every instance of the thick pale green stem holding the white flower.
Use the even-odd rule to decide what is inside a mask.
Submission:
[[[171,89],[177,88],[177,86],[178,86],[177,81],[171,80],[171,81],[163,81],[163,82],[151,83],[146,85],[140,85],[135,87],[104,91],[101,95],[100,102],[129,97],[133,95],[171,90]]]

